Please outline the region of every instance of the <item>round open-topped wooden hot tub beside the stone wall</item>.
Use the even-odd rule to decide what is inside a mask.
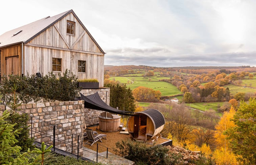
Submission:
[[[121,116],[119,116],[119,115],[114,115],[114,114],[110,114],[110,113],[107,115],[101,114],[99,116],[99,130],[102,132],[119,131],[120,119],[121,119]]]

